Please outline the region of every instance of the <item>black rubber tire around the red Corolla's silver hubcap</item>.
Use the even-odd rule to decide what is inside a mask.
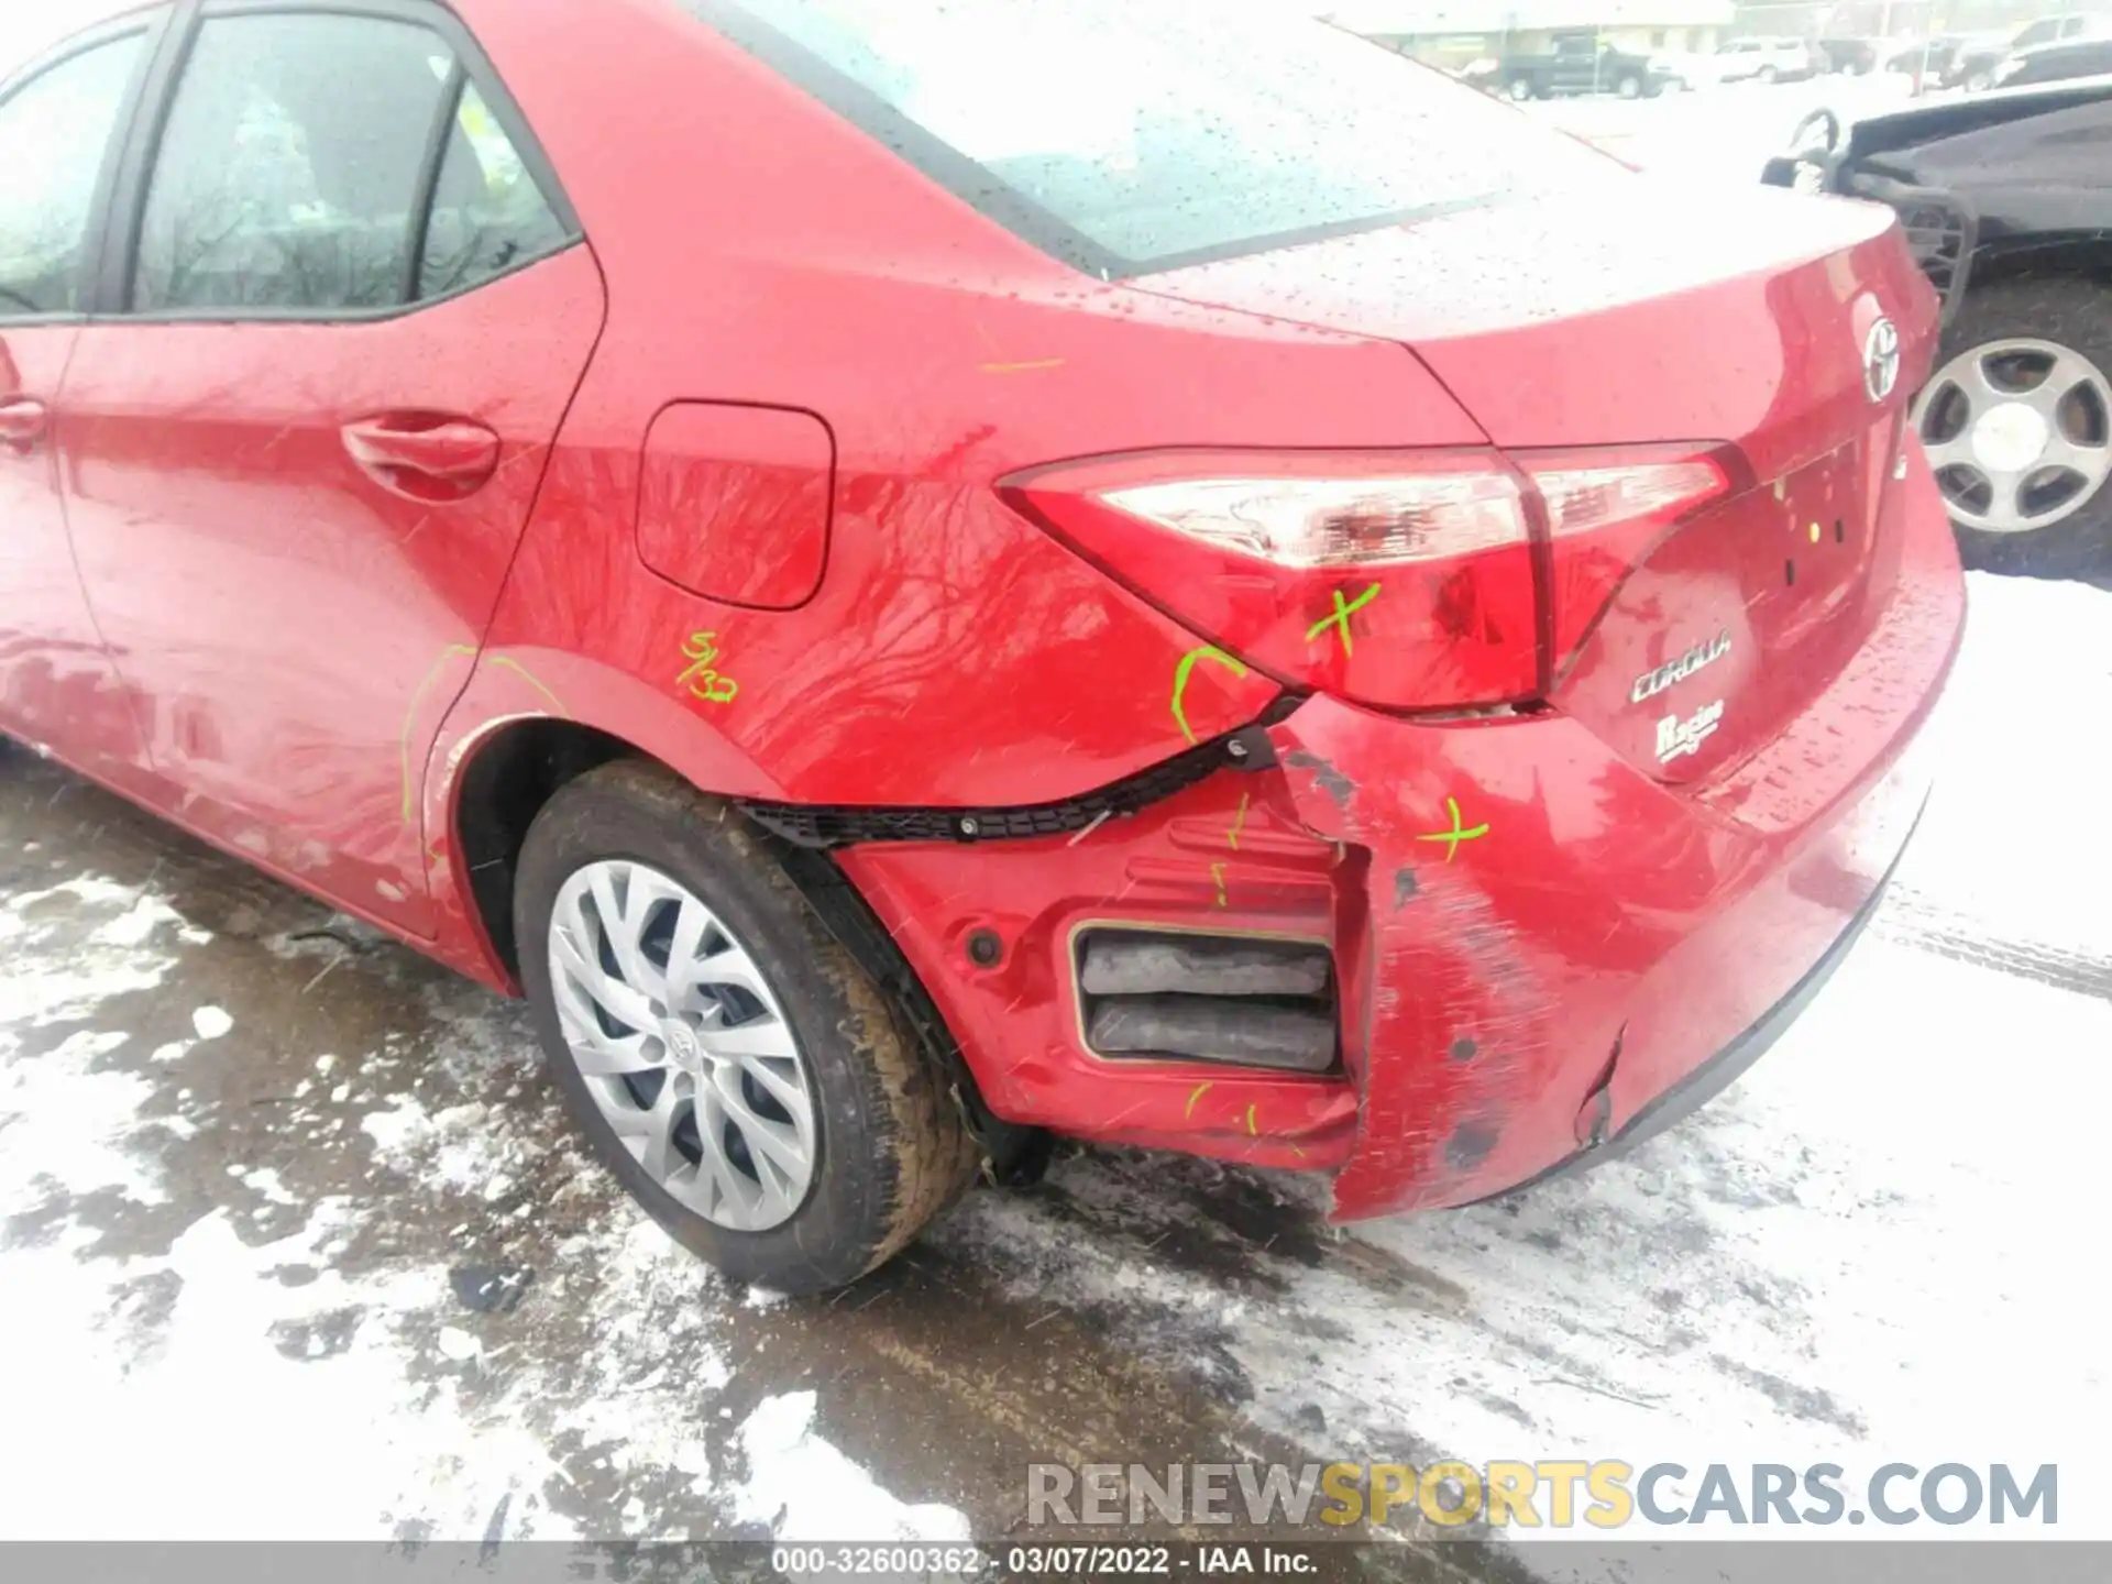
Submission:
[[[701,898],[762,967],[815,1088],[815,1178],[790,1221],[733,1231],[680,1204],[631,1157],[587,1092],[558,1020],[549,919],[585,864],[650,864]],[[967,1187],[976,1151],[946,1083],[737,811],[644,760],[560,788],[522,847],[513,923],[522,986],[566,1107],[593,1153],[661,1227],[733,1280],[779,1293],[855,1282]]]

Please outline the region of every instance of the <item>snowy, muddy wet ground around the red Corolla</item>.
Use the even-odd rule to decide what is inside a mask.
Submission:
[[[1081,1151],[834,1301],[623,1204],[515,1007],[148,868],[110,800],[65,847],[76,784],[8,800],[17,756],[0,1538],[944,1540],[1003,1533],[1035,1455],[1284,1449],[2057,1462],[2061,1533],[2112,1535],[2108,705],[2112,593],[1973,579],[1894,904],[1628,1162],[1337,1233],[1303,1178]]]

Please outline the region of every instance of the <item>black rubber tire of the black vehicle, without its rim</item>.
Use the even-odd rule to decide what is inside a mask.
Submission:
[[[2112,376],[2112,287],[2080,277],[2000,281],[1968,291],[1943,332],[1937,367],[1985,342],[2028,336],[2082,353]],[[1918,416],[1926,416],[1920,414]],[[1966,566],[2023,577],[2099,577],[2112,570],[2112,479],[2076,511],[2030,532],[1951,522]]]

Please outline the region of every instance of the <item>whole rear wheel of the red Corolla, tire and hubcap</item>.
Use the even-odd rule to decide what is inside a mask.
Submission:
[[[522,847],[522,986],[596,1155],[691,1252],[817,1293],[974,1174],[881,991],[727,805],[644,762],[560,788]]]

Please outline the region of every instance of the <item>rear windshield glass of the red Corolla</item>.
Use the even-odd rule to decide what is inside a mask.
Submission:
[[[1624,167],[1276,0],[684,0],[993,220],[1102,277]]]

